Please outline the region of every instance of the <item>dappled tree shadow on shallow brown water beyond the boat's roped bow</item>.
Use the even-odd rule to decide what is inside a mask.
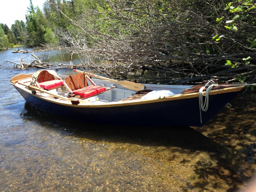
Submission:
[[[208,124],[195,128],[221,146],[219,156],[211,157],[218,158],[217,166],[199,162],[195,171],[201,178],[218,173],[229,186],[227,191],[235,191],[239,184],[256,176],[256,96],[240,94],[231,104],[232,108],[222,109]],[[207,186],[207,182],[204,179],[197,184]]]

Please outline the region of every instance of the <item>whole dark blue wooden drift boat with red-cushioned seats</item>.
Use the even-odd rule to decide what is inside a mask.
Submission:
[[[71,119],[123,125],[202,126],[245,85],[156,85],[116,81],[84,71],[61,76],[53,70],[20,74],[11,84],[36,108]],[[89,76],[97,77],[91,79]],[[206,110],[199,104],[206,95]],[[200,107],[201,106],[201,107]]]

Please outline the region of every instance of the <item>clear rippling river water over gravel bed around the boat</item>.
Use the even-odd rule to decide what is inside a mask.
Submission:
[[[63,56],[35,54],[62,62],[56,52]],[[4,61],[29,54],[0,52],[0,191],[236,191],[255,175],[253,95],[238,95],[200,128],[77,123],[35,109],[10,85],[38,69]]]

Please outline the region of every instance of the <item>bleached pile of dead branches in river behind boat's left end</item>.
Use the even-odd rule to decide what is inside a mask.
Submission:
[[[24,60],[25,58],[30,57],[30,60]],[[19,59],[20,63],[16,63],[13,61],[4,61],[4,63],[13,63],[13,68],[17,68],[17,69],[25,69],[25,68],[45,68],[45,69],[55,69],[55,70],[59,70],[59,69],[73,69],[73,68],[81,68],[84,66],[80,65],[74,65],[72,63],[72,61],[70,61],[70,64],[68,65],[66,62],[66,64],[62,64],[62,63],[57,63],[57,62],[42,62],[35,54],[31,54],[31,56],[27,56],[24,57],[22,59]]]

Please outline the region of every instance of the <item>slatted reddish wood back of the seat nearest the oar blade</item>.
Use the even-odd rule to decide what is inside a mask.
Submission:
[[[76,73],[66,77],[66,84],[72,91],[76,91],[88,86],[86,76],[81,73]]]

